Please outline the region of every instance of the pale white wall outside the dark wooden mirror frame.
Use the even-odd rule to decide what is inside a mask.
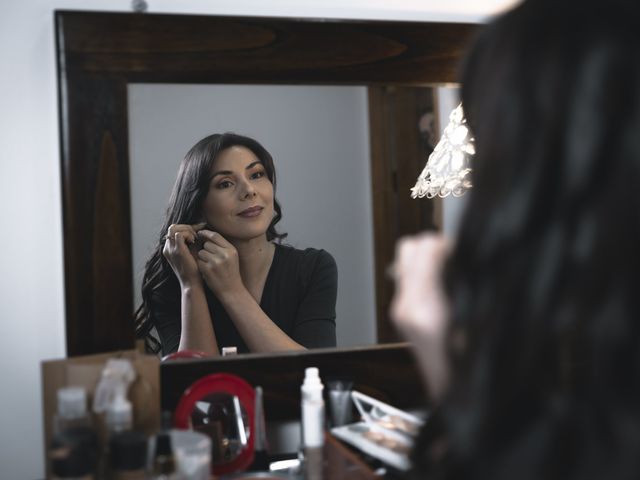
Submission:
[[[129,0],[4,0],[0,15],[0,477],[43,476],[39,363],[65,355],[54,9]],[[513,0],[149,0],[151,12],[482,21]]]

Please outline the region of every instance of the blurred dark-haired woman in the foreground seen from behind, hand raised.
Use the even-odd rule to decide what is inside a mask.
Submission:
[[[468,53],[460,230],[396,253],[435,406],[415,478],[640,478],[639,9],[527,0]]]

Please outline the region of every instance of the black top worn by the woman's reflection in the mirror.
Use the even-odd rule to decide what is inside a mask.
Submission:
[[[298,250],[279,244],[275,247],[260,308],[300,345],[307,348],[335,347],[338,292],[335,260],[325,250]],[[151,299],[151,316],[160,336],[163,355],[178,350],[182,328],[177,279],[171,283],[156,291]],[[248,352],[222,304],[209,288],[205,288],[205,292],[218,349],[235,346],[240,353]]]

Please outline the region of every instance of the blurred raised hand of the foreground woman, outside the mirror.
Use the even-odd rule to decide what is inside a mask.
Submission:
[[[438,400],[448,387],[446,336],[448,300],[441,281],[449,251],[441,235],[424,233],[396,245],[393,276],[396,291],[391,318],[411,342],[430,394]]]

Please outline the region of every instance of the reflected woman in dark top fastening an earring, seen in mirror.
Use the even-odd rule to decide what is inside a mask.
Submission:
[[[147,349],[336,345],[336,263],[281,243],[275,186],[273,159],[251,138],[214,134],[187,153],[145,267],[136,334]]]

